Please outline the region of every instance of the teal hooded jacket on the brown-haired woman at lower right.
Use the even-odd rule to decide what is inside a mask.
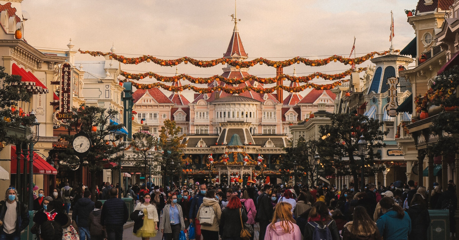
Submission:
[[[378,219],[376,225],[384,240],[406,240],[411,232],[411,218],[407,213],[400,219],[396,211],[389,211]]]

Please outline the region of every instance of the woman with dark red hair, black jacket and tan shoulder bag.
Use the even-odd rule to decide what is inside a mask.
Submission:
[[[241,200],[237,196],[233,196],[229,200],[228,206],[223,209],[220,218],[220,236],[222,240],[241,240],[242,223],[247,222],[249,219],[241,207]]]

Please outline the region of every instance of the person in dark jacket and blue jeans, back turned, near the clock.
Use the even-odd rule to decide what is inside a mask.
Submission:
[[[78,199],[73,206],[72,220],[78,225],[80,240],[85,240],[86,236],[91,239],[89,214],[94,210],[94,202],[91,201],[91,192],[84,191],[84,197]]]

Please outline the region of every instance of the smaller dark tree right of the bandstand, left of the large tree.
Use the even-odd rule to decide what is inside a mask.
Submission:
[[[294,146],[293,140],[290,141],[290,146]],[[307,183],[314,185],[319,176],[319,171],[325,170],[317,164],[317,141],[306,141],[302,136],[298,139],[296,147],[285,147],[284,158],[280,160],[280,169],[289,169],[287,174],[302,176],[306,173]],[[297,173],[294,173],[294,163],[297,161]]]

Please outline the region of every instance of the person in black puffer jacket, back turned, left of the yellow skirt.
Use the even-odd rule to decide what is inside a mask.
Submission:
[[[105,201],[101,213],[101,225],[107,231],[107,240],[122,240],[123,225],[128,221],[129,211],[126,203],[118,198],[118,189],[110,189],[110,199]]]

